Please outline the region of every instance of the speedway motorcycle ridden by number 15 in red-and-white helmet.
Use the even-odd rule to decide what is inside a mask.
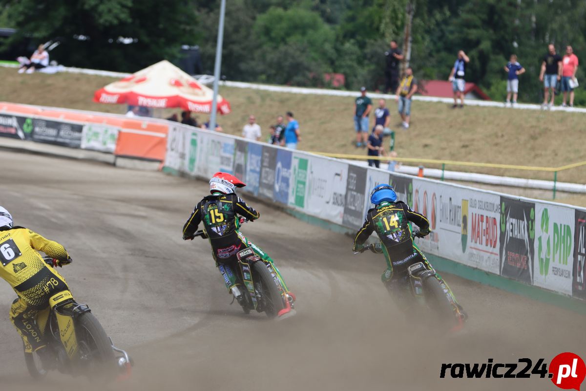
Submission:
[[[245,222],[248,220],[244,217],[240,219],[240,224]],[[203,230],[193,236],[207,239]],[[231,294],[234,295],[232,302],[242,294],[239,303],[246,314],[254,310],[264,312],[269,318],[279,319],[295,315],[295,295],[287,291],[272,262],[262,259],[251,247],[240,250],[236,257],[239,266],[236,270],[237,279],[244,286],[244,292],[240,292],[239,287],[231,288]]]

